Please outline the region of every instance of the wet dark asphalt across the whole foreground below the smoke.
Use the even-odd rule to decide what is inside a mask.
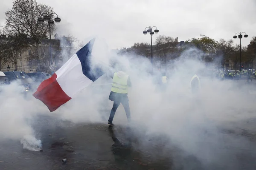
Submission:
[[[185,154],[181,148],[172,146],[165,136],[136,136],[134,132],[143,132],[143,127],[133,129],[126,125],[110,128],[105,123],[73,124],[42,115],[32,126],[35,127],[36,137],[42,140],[43,152],[25,150],[19,141],[2,142],[1,170],[256,169],[256,133],[252,130],[222,128],[224,138],[241,137],[248,142],[240,146],[232,143],[224,145],[221,150],[231,153],[232,157],[221,158],[217,164],[205,164],[196,156]],[[61,162],[64,158],[67,159],[66,163]]]

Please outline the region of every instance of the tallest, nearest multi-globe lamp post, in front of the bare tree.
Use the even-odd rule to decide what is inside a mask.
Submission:
[[[43,13],[41,14],[41,16],[38,18],[38,23],[44,23],[44,21],[48,22],[49,25],[49,37],[50,37],[50,56],[51,56],[51,61],[50,61],[50,65],[52,65],[52,43],[51,43],[51,26],[55,23],[60,23],[61,19],[58,17],[54,18],[54,20],[52,20],[51,18],[53,17],[53,15],[57,15],[56,13]]]

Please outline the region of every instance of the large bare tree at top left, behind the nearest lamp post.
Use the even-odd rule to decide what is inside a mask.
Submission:
[[[49,36],[48,23],[38,23],[38,17],[43,13],[52,13],[50,6],[38,3],[36,0],[14,0],[12,9],[6,12],[6,27],[16,35],[25,34],[32,39],[30,45],[34,50],[34,57],[43,68],[49,66],[49,55],[45,52],[42,40]],[[54,31],[55,26],[51,26]]]

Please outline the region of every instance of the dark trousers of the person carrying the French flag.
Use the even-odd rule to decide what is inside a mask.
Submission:
[[[130,106],[129,106],[129,99],[128,99],[128,97],[122,97],[122,99],[114,100],[113,108],[111,109],[108,122],[113,121],[113,118],[114,118],[115,113],[116,113],[116,109],[119,107],[120,103],[122,103],[122,105],[125,109],[125,113],[126,113],[128,121],[130,121],[131,112],[130,112]]]

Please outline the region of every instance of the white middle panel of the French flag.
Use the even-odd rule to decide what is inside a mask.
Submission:
[[[92,83],[92,81],[83,74],[81,62],[76,54],[56,71],[55,74],[57,74],[56,80],[58,84],[71,98]]]

